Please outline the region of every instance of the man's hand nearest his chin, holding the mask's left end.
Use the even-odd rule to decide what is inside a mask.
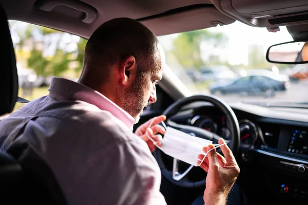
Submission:
[[[163,138],[161,135],[157,133],[160,133],[162,135],[165,134],[166,132],[165,128],[159,125],[159,123],[164,120],[166,120],[166,116],[161,115],[161,116],[158,116],[158,117],[155,117],[155,118],[152,118],[146,121],[145,123],[143,123],[136,129],[135,135],[139,136],[141,139],[143,139],[148,144],[151,152],[155,151],[156,146],[148,138],[148,136],[151,137],[156,142],[157,145],[161,146]],[[151,124],[151,127],[148,127],[150,124]]]

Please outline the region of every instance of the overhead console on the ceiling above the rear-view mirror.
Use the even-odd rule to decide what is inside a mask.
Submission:
[[[216,8],[236,20],[257,27],[308,23],[307,0],[211,0]]]

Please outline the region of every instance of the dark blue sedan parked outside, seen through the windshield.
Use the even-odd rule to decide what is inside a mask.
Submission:
[[[242,94],[273,97],[276,91],[283,91],[288,88],[290,88],[288,80],[279,76],[251,74],[241,77],[233,83],[213,85],[210,87],[210,93],[213,95]]]

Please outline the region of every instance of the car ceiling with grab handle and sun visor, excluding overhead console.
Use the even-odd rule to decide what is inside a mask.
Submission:
[[[129,17],[138,20],[156,35],[197,30],[213,27],[217,24],[226,25],[235,22],[233,18],[219,12],[210,0],[85,0],[83,2],[76,0],[4,0],[0,2],[7,11],[10,20],[44,25],[84,38],[89,38],[98,26],[115,17]],[[43,9],[45,9],[44,5],[48,8],[49,2],[55,2],[59,6],[54,7],[51,11],[40,9],[42,5]],[[71,5],[79,6],[78,9],[81,8],[80,10],[87,10],[90,17],[96,15],[95,19],[90,23],[82,22],[81,15],[84,12],[70,8]]]

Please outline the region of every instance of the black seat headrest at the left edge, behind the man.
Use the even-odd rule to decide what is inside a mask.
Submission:
[[[18,76],[7,15],[0,5],[0,115],[11,113],[17,100]]]

